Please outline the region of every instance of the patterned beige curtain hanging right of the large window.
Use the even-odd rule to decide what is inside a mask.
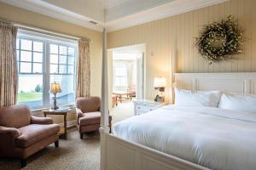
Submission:
[[[79,40],[76,97],[90,96],[90,42]]]

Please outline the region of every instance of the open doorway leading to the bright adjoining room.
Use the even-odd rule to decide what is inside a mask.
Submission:
[[[109,94],[113,122],[134,116],[133,100],[144,99],[144,51],[145,45],[113,48],[108,54]],[[117,119],[115,119],[117,117]]]

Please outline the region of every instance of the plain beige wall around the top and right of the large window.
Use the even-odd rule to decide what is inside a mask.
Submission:
[[[42,14],[33,13],[4,3],[0,3],[0,18],[75,37],[90,38],[90,94],[97,96],[101,95],[102,73],[99,66],[101,67],[102,65],[102,32],[86,29],[82,26],[75,26],[61,20],[55,20]],[[68,120],[73,120],[74,117],[74,114],[70,114]],[[55,122],[61,122],[59,116],[55,118]]]

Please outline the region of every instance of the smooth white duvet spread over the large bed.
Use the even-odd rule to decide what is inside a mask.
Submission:
[[[113,125],[113,134],[212,169],[256,169],[256,113],[167,105]]]

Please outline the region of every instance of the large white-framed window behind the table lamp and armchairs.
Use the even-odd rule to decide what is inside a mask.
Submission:
[[[61,83],[58,105],[74,102],[77,42],[42,35],[18,33],[18,104],[32,109],[52,105],[51,82]],[[47,38],[46,38],[47,37]]]

